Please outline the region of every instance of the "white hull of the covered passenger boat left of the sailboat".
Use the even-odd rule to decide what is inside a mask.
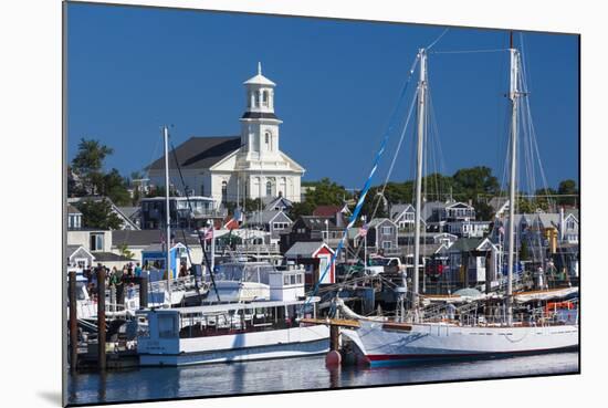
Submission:
[[[138,343],[141,366],[186,366],[304,357],[328,351],[329,329],[325,326],[178,338],[174,342],[150,344],[139,339]]]

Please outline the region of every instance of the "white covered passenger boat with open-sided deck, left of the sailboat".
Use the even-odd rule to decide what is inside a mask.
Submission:
[[[268,299],[242,301],[238,292],[238,302],[137,312],[139,364],[184,366],[327,353],[329,329],[297,322],[302,312],[315,318],[319,302],[306,299],[304,271],[273,269],[266,286]]]

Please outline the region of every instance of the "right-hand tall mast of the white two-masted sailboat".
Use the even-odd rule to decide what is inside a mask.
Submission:
[[[515,261],[515,184],[517,167],[517,88],[518,57],[517,50],[513,48],[511,40],[511,86],[509,98],[511,100],[511,181],[509,191],[509,260],[506,275],[506,320],[507,324],[513,323],[513,269]]]

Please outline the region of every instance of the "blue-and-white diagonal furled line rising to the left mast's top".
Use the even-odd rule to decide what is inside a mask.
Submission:
[[[382,136],[382,139],[380,142],[380,147],[378,148],[378,151],[376,153],[376,157],[374,158],[374,164],[373,164],[371,169],[369,171],[369,176],[367,177],[367,180],[365,181],[364,188],[361,189],[361,192],[359,195],[359,199],[357,201],[357,205],[355,206],[355,209],[353,210],[353,215],[350,216],[350,220],[348,221],[348,224],[346,226],[346,228],[343,231],[342,239],[338,242],[336,251],[332,255],[332,259],[327,263],[327,265],[325,265],[325,271],[323,271],[323,274],[321,274],[318,280],[316,281],[315,286],[314,286],[313,291],[311,292],[311,295],[306,299],[306,302],[304,302],[302,304],[301,313],[304,312],[304,308],[311,303],[312,297],[318,292],[318,286],[319,286],[321,282],[325,279],[325,275],[327,274],[327,272],[329,271],[332,265],[334,265],[337,255],[339,254],[339,252],[342,251],[342,248],[344,247],[344,241],[348,237],[348,230],[355,224],[355,222],[357,221],[357,219],[359,217],[359,212],[361,211],[361,207],[365,202],[365,198],[367,196],[367,192],[369,191],[369,188],[371,187],[371,180],[374,179],[374,175],[376,174],[376,170],[378,169],[380,158],[382,157],[382,154],[385,153],[386,145],[387,145],[389,136],[391,134],[392,127],[395,126],[394,121],[397,116],[397,112],[399,111],[400,102],[403,100],[406,91],[408,90],[408,85],[411,81],[413,71],[416,69],[416,65],[418,64],[419,59],[420,59],[420,55],[416,54],[416,57],[415,57],[413,63],[411,64],[411,69],[409,71],[409,75],[408,75],[403,86],[401,87],[399,98],[398,98],[397,104],[395,106],[395,109],[394,109],[394,112],[390,116],[389,126],[388,126],[387,130],[385,132],[385,134]]]

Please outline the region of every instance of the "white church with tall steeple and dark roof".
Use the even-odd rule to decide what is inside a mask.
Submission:
[[[264,201],[282,196],[301,201],[304,168],[280,149],[280,121],[274,114],[275,83],[258,74],[244,82],[247,109],[241,135],[190,137],[176,147],[176,156],[190,195],[210,197],[219,207],[242,202],[243,198]],[[170,182],[185,192],[172,153],[169,155]],[[155,186],[165,185],[165,160],[148,166]]]

